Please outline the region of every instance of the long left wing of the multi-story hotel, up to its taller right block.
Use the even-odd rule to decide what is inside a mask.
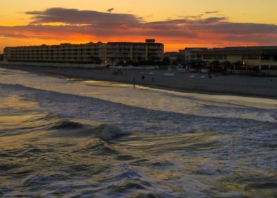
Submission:
[[[53,46],[6,47],[4,60],[9,62],[91,62],[92,57],[105,58],[105,44],[60,44]]]

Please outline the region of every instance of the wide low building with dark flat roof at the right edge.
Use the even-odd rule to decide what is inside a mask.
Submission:
[[[211,48],[199,51],[197,55],[205,62],[218,61],[220,64],[240,62],[240,69],[277,69],[277,46]]]

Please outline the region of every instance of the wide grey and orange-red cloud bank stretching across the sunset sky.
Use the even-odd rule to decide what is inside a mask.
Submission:
[[[217,11],[206,12],[206,14]],[[190,40],[203,42],[261,42],[277,44],[275,24],[232,23],[226,17],[202,18],[202,15],[168,18],[147,22],[131,14],[116,14],[91,10],[49,8],[26,12],[33,15],[27,26],[0,26],[0,35],[15,38],[64,39],[74,35],[109,40],[111,37],[159,37],[160,40]],[[65,26],[49,26],[62,23]],[[82,26],[80,26],[82,24]],[[264,42],[264,43],[262,43]]]

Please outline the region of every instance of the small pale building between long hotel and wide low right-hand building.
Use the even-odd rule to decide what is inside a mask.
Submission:
[[[185,48],[184,50],[179,50],[179,54],[185,64],[196,62],[201,60],[201,55],[197,55],[200,51],[205,51],[208,48]]]

